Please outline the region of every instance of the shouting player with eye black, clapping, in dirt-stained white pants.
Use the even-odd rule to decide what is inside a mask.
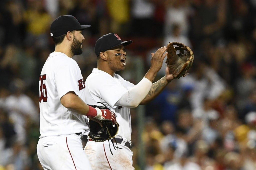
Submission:
[[[92,169],[134,169],[130,108],[151,101],[173,79],[173,75],[169,74],[169,69],[166,68],[166,75],[152,84],[167,55],[165,46],[151,53],[151,67],[138,84],[134,85],[115,74],[125,68],[124,46],[131,43],[132,41],[122,41],[115,33],[109,33],[100,37],[95,44],[97,68],[92,70],[85,81],[85,101],[92,105],[97,105],[97,102],[105,104],[115,112],[120,127],[113,139],[114,145],[109,144],[108,140],[87,142],[84,150]]]

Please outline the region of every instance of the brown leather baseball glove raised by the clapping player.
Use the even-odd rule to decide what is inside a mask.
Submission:
[[[174,47],[174,45],[177,47]],[[178,50],[179,54],[176,54]],[[188,46],[179,42],[169,42],[166,51],[168,54],[165,63],[170,73],[173,74],[175,79],[186,76],[187,70],[194,61],[193,51]]]

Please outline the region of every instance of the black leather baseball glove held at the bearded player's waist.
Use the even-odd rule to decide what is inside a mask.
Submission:
[[[100,102],[98,102],[98,103],[100,103]],[[99,109],[110,110],[105,105],[104,106],[90,105],[90,106],[98,107]],[[88,137],[92,141],[103,142],[105,140],[114,138],[117,135],[118,128],[119,128],[119,124],[117,122],[113,125],[111,120],[106,119],[106,120],[101,120],[101,123],[102,123],[103,127],[101,127],[99,123],[89,119],[90,132],[88,134]]]

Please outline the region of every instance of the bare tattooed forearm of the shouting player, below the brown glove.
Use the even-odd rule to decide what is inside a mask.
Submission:
[[[166,75],[162,77],[160,80],[152,84],[152,87],[146,97],[140,103],[141,105],[147,104],[152,101],[158,94],[160,94],[164,88],[167,86],[168,81],[166,79]]]

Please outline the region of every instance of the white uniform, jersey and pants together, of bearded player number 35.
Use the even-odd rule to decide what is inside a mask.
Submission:
[[[68,110],[60,98],[74,91],[85,99],[84,80],[76,61],[51,53],[39,77],[40,139],[38,159],[44,169],[91,169],[81,136],[89,132],[86,116]],[[76,133],[80,133],[79,136]]]

